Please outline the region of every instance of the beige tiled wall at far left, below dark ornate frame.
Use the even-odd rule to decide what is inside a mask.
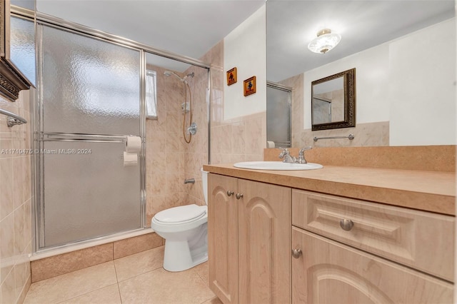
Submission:
[[[0,108],[30,121],[30,96],[16,102],[0,96]],[[30,286],[31,124],[8,128],[0,115],[0,303],[22,303]],[[16,150],[14,150],[16,149]]]

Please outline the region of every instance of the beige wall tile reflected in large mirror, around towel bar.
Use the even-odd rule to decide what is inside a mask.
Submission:
[[[292,146],[338,147],[338,146],[388,146],[389,123],[380,121],[374,123],[356,123],[355,128],[338,128],[333,130],[311,131],[303,129],[303,98],[306,93],[303,88],[303,74],[298,74],[281,81],[284,86],[293,88],[292,100]],[[353,141],[330,139],[313,141],[316,137],[354,135]]]

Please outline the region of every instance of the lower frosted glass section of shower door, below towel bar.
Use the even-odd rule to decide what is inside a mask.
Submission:
[[[124,143],[44,142],[44,245],[140,228],[139,166]]]

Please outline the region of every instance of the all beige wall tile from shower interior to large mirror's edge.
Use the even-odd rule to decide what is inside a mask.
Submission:
[[[211,48],[201,61],[211,63],[211,163],[260,161],[266,148],[266,113],[224,121],[224,41]],[[159,211],[174,206],[204,204],[200,168],[208,163],[208,113],[205,69],[191,67],[184,74],[192,91],[194,119],[199,131],[191,143],[182,134],[181,103],[185,86],[176,78],[157,71],[157,121],[146,121],[146,221]],[[185,178],[195,184],[184,185]]]

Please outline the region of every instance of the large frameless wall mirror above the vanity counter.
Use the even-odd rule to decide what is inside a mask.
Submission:
[[[353,141],[334,144],[456,144],[454,7],[453,0],[268,0],[267,80],[293,88],[292,146],[324,145],[329,141],[314,143],[313,137],[349,133],[355,135]],[[308,44],[322,29],[340,34],[341,41],[326,54],[316,54]],[[346,108],[344,118],[337,108],[329,114],[328,98],[317,93],[323,85],[314,81],[354,68],[351,126]],[[340,88],[341,81],[335,80]],[[326,111],[317,110],[318,106]],[[316,111],[321,111],[320,117]]]

